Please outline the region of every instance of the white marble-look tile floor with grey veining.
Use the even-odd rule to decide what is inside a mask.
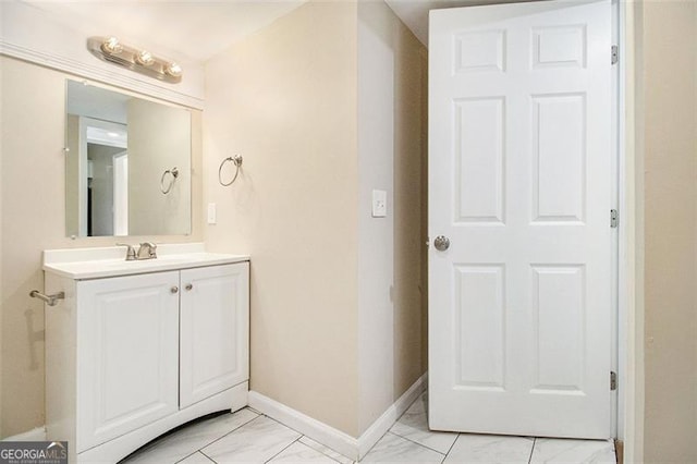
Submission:
[[[427,393],[418,398],[362,463],[614,464],[612,441],[430,431]],[[246,407],[195,422],[142,448],[121,464],[353,462]]]

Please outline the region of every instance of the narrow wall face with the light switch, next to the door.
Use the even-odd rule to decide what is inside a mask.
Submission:
[[[358,377],[365,431],[421,374],[423,45],[383,2],[358,2]],[[371,217],[372,190],[387,217]]]

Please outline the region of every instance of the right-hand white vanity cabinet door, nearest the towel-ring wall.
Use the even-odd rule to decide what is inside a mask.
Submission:
[[[249,378],[249,264],[181,272],[183,408]]]

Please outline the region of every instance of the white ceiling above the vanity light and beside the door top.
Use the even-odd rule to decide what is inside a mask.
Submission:
[[[88,36],[114,35],[124,42],[139,48],[174,51],[188,59],[205,62],[236,40],[301,7],[306,0],[16,1],[44,10],[57,21]],[[386,0],[386,2],[414,35],[424,45],[428,45],[429,10],[502,3],[506,0]]]

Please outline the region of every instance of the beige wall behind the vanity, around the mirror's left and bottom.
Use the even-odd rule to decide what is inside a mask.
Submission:
[[[45,423],[44,305],[28,296],[32,289],[44,289],[41,251],[112,245],[114,239],[65,237],[62,148],[68,75],[7,57],[0,57],[0,437],[9,437]],[[193,125],[200,127],[200,112],[194,112]],[[200,146],[200,132],[194,132],[194,146]],[[193,162],[200,172],[200,150],[195,150]],[[193,190],[200,198],[198,175]],[[129,241],[201,241],[200,218],[196,203],[192,235]]]

